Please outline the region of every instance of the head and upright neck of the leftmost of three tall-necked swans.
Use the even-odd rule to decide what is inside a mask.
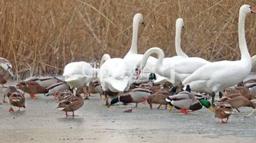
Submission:
[[[137,40],[138,40],[138,29],[139,23],[143,22],[143,15],[141,13],[137,13],[134,15],[133,23],[132,23],[132,45],[127,54],[138,54],[137,49]]]

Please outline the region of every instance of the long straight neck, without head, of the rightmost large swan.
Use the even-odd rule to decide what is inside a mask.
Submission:
[[[245,40],[245,17],[246,14],[240,10],[238,20],[239,49],[241,51],[241,60],[251,60]]]

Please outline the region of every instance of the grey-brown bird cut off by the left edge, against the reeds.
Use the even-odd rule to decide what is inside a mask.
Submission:
[[[0,58],[0,84],[4,87],[8,80],[13,80],[13,68],[11,63],[4,58]]]

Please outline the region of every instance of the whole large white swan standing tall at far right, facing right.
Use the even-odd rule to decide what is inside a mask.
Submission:
[[[249,75],[252,68],[252,59],[248,53],[245,40],[245,17],[248,13],[255,13],[255,11],[247,4],[241,6],[238,20],[241,60],[208,63],[183,80],[183,85],[190,85],[191,90],[197,92],[213,92],[213,103],[215,92],[232,87]]]

